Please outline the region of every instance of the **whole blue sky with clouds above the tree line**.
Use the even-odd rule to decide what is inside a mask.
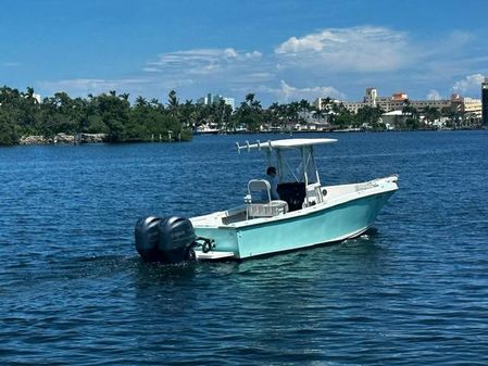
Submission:
[[[0,85],[42,97],[166,101],[253,92],[263,105],[479,98],[488,1],[0,0]]]

